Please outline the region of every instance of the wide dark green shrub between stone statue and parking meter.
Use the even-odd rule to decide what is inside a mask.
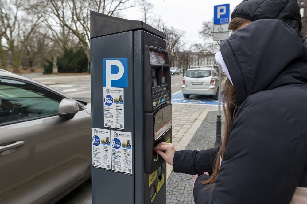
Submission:
[[[57,57],[59,73],[87,72],[87,57],[84,49],[74,51],[72,48],[64,50],[64,54]]]

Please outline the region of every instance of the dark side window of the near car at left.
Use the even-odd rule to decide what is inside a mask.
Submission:
[[[0,78],[0,125],[56,114],[61,100],[33,84]]]

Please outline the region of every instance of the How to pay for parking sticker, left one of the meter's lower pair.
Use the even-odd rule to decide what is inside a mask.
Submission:
[[[92,162],[94,167],[111,170],[110,130],[92,128]]]

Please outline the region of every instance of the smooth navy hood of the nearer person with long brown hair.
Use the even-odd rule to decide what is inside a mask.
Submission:
[[[237,104],[260,91],[307,79],[305,39],[281,20],[261,19],[237,30],[220,50]]]

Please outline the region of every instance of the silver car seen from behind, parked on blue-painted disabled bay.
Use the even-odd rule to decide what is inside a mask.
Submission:
[[[218,73],[211,67],[188,69],[182,79],[182,93],[185,98],[190,95],[210,95],[214,100],[218,98]]]

